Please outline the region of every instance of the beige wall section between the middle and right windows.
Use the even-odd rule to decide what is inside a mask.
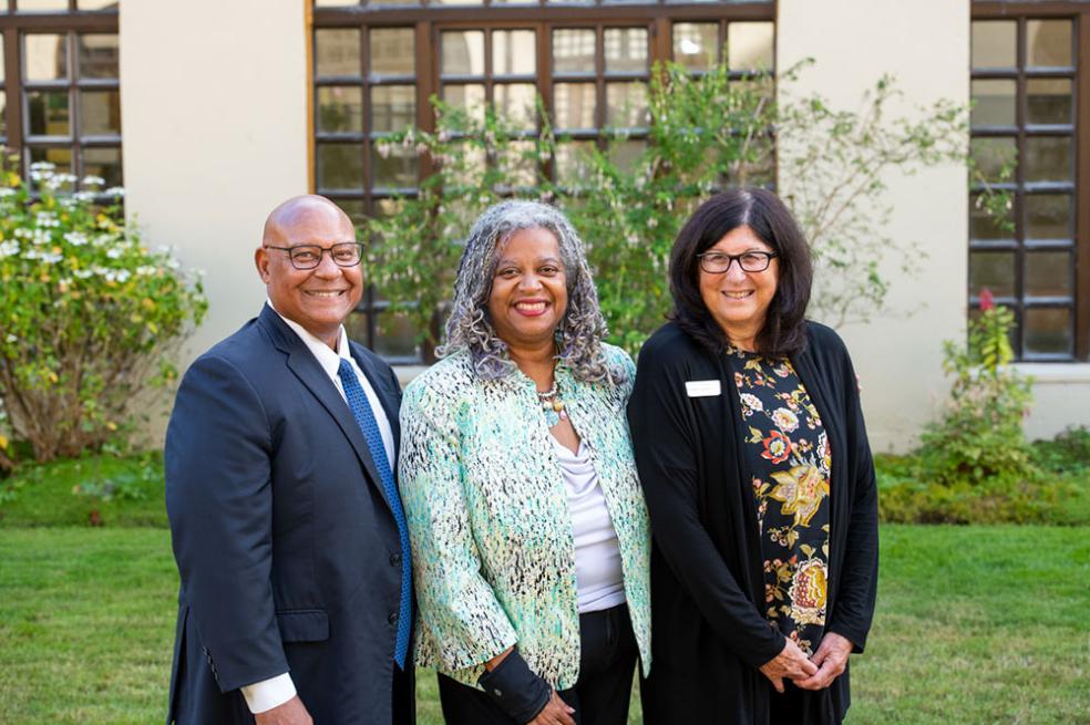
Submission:
[[[883,73],[896,76],[904,91],[894,116],[939,99],[967,102],[968,52],[969,0],[917,0],[911,9],[903,0],[779,1],[777,66],[813,58],[799,90],[820,93],[834,107],[857,108]],[[897,313],[840,330],[862,380],[878,450],[912,444],[946,389],[942,341],[963,334],[967,265],[965,172],[950,164],[915,176],[892,173],[885,180],[894,208],[888,236],[930,261],[916,279],[886,270]],[[790,179],[780,184],[790,188]]]

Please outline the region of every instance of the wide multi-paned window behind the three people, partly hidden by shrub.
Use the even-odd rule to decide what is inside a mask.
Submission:
[[[392,196],[411,195],[428,169],[412,149],[383,156],[374,142],[410,123],[433,128],[431,94],[469,113],[494,104],[527,136],[539,94],[570,138],[547,168],[558,182],[579,173],[587,145],[624,164],[646,144],[656,60],[699,73],[726,59],[739,79],[773,70],[773,15],[771,0],[316,0],[313,188],[357,219],[394,214]],[[429,361],[415,330],[388,314],[369,290],[350,331],[391,362]]]

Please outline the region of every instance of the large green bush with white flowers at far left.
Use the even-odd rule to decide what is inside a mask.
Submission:
[[[199,323],[199,280],[126,225],[123,190],[0,163],[0,455],[38,460],[101,447],[134,401],[176,375],[172,351]]]

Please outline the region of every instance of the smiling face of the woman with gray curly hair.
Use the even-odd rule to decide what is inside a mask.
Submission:
[[[567,277],[561,245],[548,229],[520,229],[497,250],[489,315],[496,334],[511,346],[553,340],[567,310]]]

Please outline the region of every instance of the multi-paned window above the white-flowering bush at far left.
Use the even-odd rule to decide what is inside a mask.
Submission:
[[[24,169],[50,162],[121,186],[117,3],[0,1],[0,141]]]

